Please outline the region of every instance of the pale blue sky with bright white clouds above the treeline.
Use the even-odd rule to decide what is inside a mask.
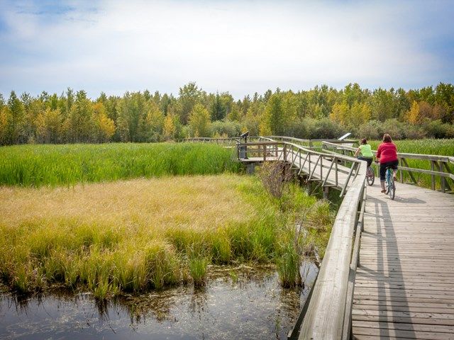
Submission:
[[[0,0],[0,93],[454,83],[454,1]]]

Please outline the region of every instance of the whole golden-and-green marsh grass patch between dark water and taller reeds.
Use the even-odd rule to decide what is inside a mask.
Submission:
[[[21,293],[63,285],[104,299],[203,285],[211,263],[279,264],[295,212],[317,202],[293,185],[283,199],[287,210],[257,178],[232,174],[3,187],[1,280]],[[324,209],[309,217],[314,239],[331,222]]]

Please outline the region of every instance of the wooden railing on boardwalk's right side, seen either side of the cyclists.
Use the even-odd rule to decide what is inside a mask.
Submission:
[[[338,145],[332,142],[322,142],[323,151],[328,153],[336,153],[336,154],[343,154],[343,155],[352,155],[355,153],[356,148],[350,147],[347,145]],[[372,151],[374,154],[377,154],[376,151]],[[431,188],[432,190],[436,190],[436,177],[440,178],[440,187],[441,191],[444,193],[446,190],[453,191],[451,186],[454,188],[454,174],[453,170],[450,169],[449,164],[454,164],[454,157],[448,156],[438,156],[438,155],[431,155],[431,154],[407,154],[403,152],[397,153],[397,157],[399,158],[399,180],[401,183],[404,182],[403,171],[406,171],[413,181],[414,184],[418,184],[416,181],[414,173],[419,174],[426,174],[431,176]],[[430,163],[431,169],[420,169],[409,166],[407,159],[418,159],[420,161]],[[451,185],[449,184],[449,181]]]

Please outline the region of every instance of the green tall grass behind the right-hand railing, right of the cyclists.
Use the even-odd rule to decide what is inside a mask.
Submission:
[[[372,149],[377,149],[381,141],[372,141],[370,145]],[[443,156],[454,156],[454,140],[395,140],[394,143],[397,145],[397,152],[404,152],[409,154],[433,154],[433,155],[443,155]],[[426,169],[431,170],[431,162],[419,159],[406,159],[406,162],[411,168]],[[448,164],[451,172],[454,172],[453,164]],[[436,169],[435,169],[436,170]],[[445,169],[443,169],[445,171]],[[419,174],[414,172],[413,176],[415,177],[419,186],[425,188],[431,188],[431,175]],[[398,179],[399,179],[398,175]],[[411,181],[411,177],[407,171],[403,171],[404,181]],[[439,176],[435,177],[436,188],[441,188],[441,180]],[[447,180],[450,186],[452,186],[453,181]]]

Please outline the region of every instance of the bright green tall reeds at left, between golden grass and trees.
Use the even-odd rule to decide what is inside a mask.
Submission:
[[[0,147],[0,186],[60,186],[237,171],[231,150],[194,143]]]

